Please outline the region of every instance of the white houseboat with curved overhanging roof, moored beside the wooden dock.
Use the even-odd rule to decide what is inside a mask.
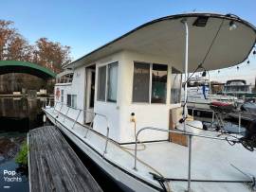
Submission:
[[[231,14],[156,19],[64,65],[46,117],[124,191],[251,191],[256,153],[188,117],[181,76],[245,61],[255,39]]]

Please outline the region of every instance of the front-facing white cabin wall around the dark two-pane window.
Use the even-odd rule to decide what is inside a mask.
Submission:
[[[168,64],[168,80],[167,80],[167,102],[166,104],[149,104],[149,103],[132,103],[133,96],[133,73],[134,61],[155,62],[160,64]],[[181,70],[182,67],[174,66]],[[171,75],[172,62],[163,57],[144,55],[131,51],[124,51],[122,64],[119,69],[119,110],[120,110],[120,140],[121,143],[134,142],[134,123],[130,121],[131,113],[136,114],[137,131],[144,127],[155,127],[168,130],[169,129],[169,112],[179,104],[171,103]],[[162,131],[144,131],[140,134],[139,140],[167,140],[168,132]]]

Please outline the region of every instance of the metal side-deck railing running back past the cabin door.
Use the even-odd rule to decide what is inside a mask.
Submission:
[[[82,109],[74,108],[74,107],[71,107],[71,106],[68,106],[68,105],[64,104],[64,102],[59,102],[59,101],[53,101],[53,102],[54,102],[53,113],[54,113],[55,111],[57,111],[57,115],[54,117],[55,123],[56,123],[57,118],[59,117],[60,113],[62,113],[61,111],[62,111],[62,109],[63,109],[63,106],[67,107],[66,112],[65,112],[65,113],[62,113],[62,115],[64,115],[63,122],[65,121],[66,118],[68,118],[68,119],[70,119],[71,121],[73,121],[73,125],[72,125],[72,127],[71,127],[72,130],[75,128],[75,126],[76,126],[77,124],[81,125],[83,128],[86,128],[86,132],[85,132],[84,138],[86,138],[88,131],[93,129],[93,123],[94,123],[94,120],[95,120],[96,116],[101,116],[102,118],[104,118],[105,121],[106,121],[106,125],[107,125],[107,126],[106,126],[106,135],[102,135],[102,136],[105,137],[105,139],[106,139],[105,147],[104,147],[104,151],[103,151],[103,155],[107,153],[107,146],[108,146],[108,142],[109,142],[109,123],[108,123],[108,118],[107,118],[106,115],[101,114],[101,113],[90,112],[90,111],[88,111],[88,110],[82,110]],[[47,97],[46,97],[46,102],[45,102],[45,106],[44,106],[45,108],[46,108],[46,103],[47,103]],[[50,103],[50,101],[48,101],[48,103]],[[51,103],[50,103],[50,104],[51,104]],[[61,104],[59,110],[57,109],[57,105],[58,105],[58,104]],[[48,106],[50,106],[50,105],[48,105]],[[51,106],[51,107],[52,107],[52,106]],[[78,111],[78,114],[77,114],[77,116],[76,116],[75,119],[73,119],[72,117],[68,116],[68,113],[70,112],[70,109],[75,110],[75,111]],[[85,125],[85,124],[83,124],[83,123],[80,123],[80,122],[78,121],[78,120],[79,120],[79,117],[80,117],[80,115],[81,115],[82,112],[85,113],[84,116],[86,116],[86,113],[92,113],[92,114],[93,114],[93,118],[92,118],[92,121],[90,122],[90,125],[89,125],[89,126],[87,126],[87,125]],[[86,117],[85,117],[85,118],[86,118]],[[84,119],[84,120],[85,120],[85,119]]]

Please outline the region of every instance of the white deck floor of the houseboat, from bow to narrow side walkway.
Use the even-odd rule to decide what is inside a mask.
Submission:
[[[52,109],[46,109],[46,112],[53,117],[56,116]],[[76,124],[74,129],[71,129],[73,122],[67,118],[64,119],[64,115],[61,113],[56,118],[56,122],[62,125],[61,127],[66,127],[64,131],[71,131],[86,144],[99,151],[99,153],[104,153],[104,137],[99,136],[94,131],[88,131],[87,137],[84,138],[86,128]],[[212,131],[195,130],[194,132],[208,136],[219,136],[220,138],[227,136],[219,135],[219,132]],[[145,143],[144,145],[145,149],[137,151],[137,158],[139,159],[137,161],[137,170],[134,169],[134,144],[119,146],[115,142],[109,142],[104,158],[137,177],[158,186],[159,183],[150,174],[155,170],[157,170],[157,174],[160,173],[166,178],[185,180],[188,178],[189,149],[187,147],[168,141]],[[138,148],[142,148],[141,144]],[[255,160],[256,152],[248,151],[240,144],[230,146],[225,140],[192,137],[192,180],[229,181],[229,183],[192,182],[192,190],[251,191],[246,183],[242,183],[243,181],[249,181],[249,178],[233,166],[238,167],[247,174],[256,176],[254,171],[256,169]],[[187,184],[187,182],[170,182],[173,191],[184,191],[187,189]]]

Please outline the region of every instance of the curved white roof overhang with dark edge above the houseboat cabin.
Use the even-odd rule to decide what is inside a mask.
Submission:
[[[202,16],[208,17],[206,26],[194,26],[196,19]],[[239,17],[212,13],[179,14],[138,26],[64,68],[86,65],[120,50],[166,57],[175,65],[183,66],[185,26],[181,21],[184,19],[189,26],[189,71],[202,63],[212,42],[203,63],[207,70],[225,68],[245,61],[256,41],[255,26]],[[237,28],[229,30],[231,21]]]

